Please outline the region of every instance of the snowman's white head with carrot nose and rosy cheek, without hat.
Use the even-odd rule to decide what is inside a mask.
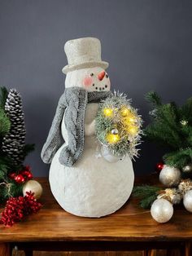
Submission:
[[[65,87],[78,86],[87,91],[110,90],[110,79],[101,67],[81,68],[67,73]]]

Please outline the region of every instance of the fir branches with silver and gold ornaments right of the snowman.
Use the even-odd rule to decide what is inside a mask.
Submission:
[[[174,188],[143,185],[133,189],[133,196],[140,197],[143,208],[152,205],[152,217],[161,223],[172,217],[172,204],[179,204],[182,199],[185,209],[192,211],[192,180],[189,179],[192,171],[192,98],[181,107],[174,102],[162,104],[155,92],[148,93],[146,99],[154,109],[150,113],[153,122],[146,127],[144,134],[147,139],[159,142],[171,151],[163,157],[165,164],[158,163],[156,170],[160,170],[159,181]]]

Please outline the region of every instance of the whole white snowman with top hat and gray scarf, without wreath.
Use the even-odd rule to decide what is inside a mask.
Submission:
[[[95,117],[99,102],[111,95],[100,41],[70,40],[64,51],[65,90],[41,158],[51,163],[50,189],[59,205],[71,214],[98,218],[114,213],[129,199],[133,165],[129,156],[116,161],[98,157]]]

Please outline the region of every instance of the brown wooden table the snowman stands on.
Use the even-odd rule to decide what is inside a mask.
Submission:
[[[46,178],[38,179],[44,189],[43,208],[13,227],[0,227],[0,256],[8,256],[17,245],[26,255],[33,250],[126,251],[178,248],[181,255],[192,255],[192,214],[183,208],[174,212],[172,220],[159,224],[149,210],[129,201],[115,214],[104,218],[81,218],[68,214],[51,195]],[[149,179],[148,179],[149,180]],[[150,179],[151,181],[153,179]],[[136,179],[145,183],[145,179]]]

